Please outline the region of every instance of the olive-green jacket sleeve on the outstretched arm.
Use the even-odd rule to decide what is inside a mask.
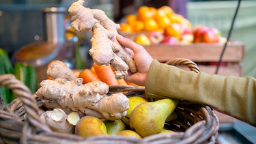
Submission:
[[[186,71],[154,60],[145,83],[147,98],[176,98],[208,104],[256,125],[256,80]]]

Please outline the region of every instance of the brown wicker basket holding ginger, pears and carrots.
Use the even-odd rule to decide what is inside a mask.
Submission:
[[[189,59],[167,61],[172,66],[187,66],[199,72]],[[83,138],[74,134],[53,132],[38,115],[42,106],[39,98],[12,74],[0,76],[0,86],[12,89],[18,96],[10,104],[0,105],[0,143],[215,143],[219,121],[210,106],[181,101],[175,111],[178,118],[165,124],[173,133],[154,134],[143,139],[127,136],[93,136]],[[144,87],[110,86],[110,92],[125,91],[126,96],[144,94]]]

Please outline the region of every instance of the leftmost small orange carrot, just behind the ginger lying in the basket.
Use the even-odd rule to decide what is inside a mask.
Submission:
[[[93,82],[93,81],[100,81],[98,76],[96,74],[94,74],[93,72],[91,72],[91,70],[89,70],[89,69],[83,70],[79,74],[79,78],[83,78],[83,84]]]

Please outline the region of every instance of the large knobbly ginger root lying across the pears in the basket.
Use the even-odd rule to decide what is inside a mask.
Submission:
[[[121,119],[129,109],[129,100],[123,93],[107,96],[109,85],[95,81],[83,85],[83,78],[66,81],[62,78],[44,80],[35,92],[47,109],[63,109],[94,115],[101,119]]]

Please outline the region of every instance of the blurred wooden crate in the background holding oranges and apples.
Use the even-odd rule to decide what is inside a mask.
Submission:
[[[144,46],[150,55],[158,61],[168,61],[175,58],[186,58],[198,64],[201,72],[215,74],[216,63],[221,57],[224,44],[189,44],[169,46],[166,44]],[[245,46],[242,42],[229,42],[218,74],[243,76],[241,61],[244,58]],[[212,64],[215,63],[215,64]]]

